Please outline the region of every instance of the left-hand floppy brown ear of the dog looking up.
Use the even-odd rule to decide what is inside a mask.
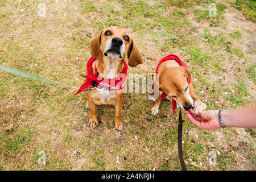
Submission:
[[[92,42],[90,43],[89,49],[90,49],[90,55],[92,55],[93,57],[96,57],[97,60],[103,61],[103,56],[102,56],[102,52],[101,52],[101,34],[102,34],[103,30],[100,32],[100,34],[98,34],[98,36],[96,38],[94,38],[92,40]]]

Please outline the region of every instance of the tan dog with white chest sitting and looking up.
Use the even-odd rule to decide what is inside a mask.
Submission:
[[[124,68],[123,59],[127,55],[130,67],[142,64],[142,56],[135,46],[129,33],[119,27],[109,27],[102,30],[92,40],[89,46],[90,54],[96,57],[93,68],[96,66],[102,78],[116,78]],[[95,73],[93,69],[93,74]],[[115,105],[115,129],[122,130],[121,108],[123,101],[122,90],[97,90],[86,92],[88,101],[86,109],[90,109],[90,120],[88,125],[92,128],[98,125],[96,104]]]

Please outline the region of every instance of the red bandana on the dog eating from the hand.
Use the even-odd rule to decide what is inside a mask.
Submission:
[[[183,61],[181,61],[178,56],[168,55],[168,56],[164,57],[162,60],[159,61],[158,66],[156,67],[156,71],[155,71],[156,74],[158,73],[158,68],[159,68],[160,64],[162,64],[164,61],[168,61],[168,60],[175,60],[175,61],[177,61],[177,63],[179,63],[179,65],[181,67],[187,67],[188,68],[187,64],[185,64]],[[188,84],[190,84],[190,83],[191,83],[191,77],[188,78]],[[162,95],[160,96],[161,101],[164,98],[166,98],[166,96],[167,96],[167,94],[163,92]],[[175,113],[176,105],[177,105],[176,101],[174,99],[172,99],[172,110],[174,111],[174,113]]]

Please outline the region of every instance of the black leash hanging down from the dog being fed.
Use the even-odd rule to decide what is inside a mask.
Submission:
[[[187,171],[187,168],[184,163],[183,159],[183,152],[182,152],[182,116],[181,116],[181,108],[179,114],[179,125],[178,125],[178,151],[179,151],[179,158],[180,158],[180,165],[183,171]]]

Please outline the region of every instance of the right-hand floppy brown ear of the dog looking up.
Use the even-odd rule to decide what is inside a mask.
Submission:
[[[127,57],[129,59],[128,64],[130,67],[137,67],[138,64],[143,63],[141,53],[139,53],[139,50],[135,46],[133,39],[131,39],[131,46],[127,52]]]

